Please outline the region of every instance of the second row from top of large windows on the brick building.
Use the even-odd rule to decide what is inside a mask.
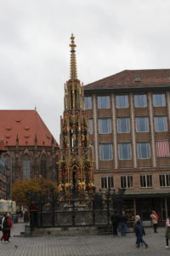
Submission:
[[[167,131],[167,117],[156,116],[154,118],[155,131]],[[149,132],[149,118],[138,117],[136,118],[136,131]],[[89,133],[93,134],[93,119],[89,119]],[[130,119],[127,117],[117,118],[117,132],[129,133],[130,132]],[[99,134],[111,133],[111,119],[99,119]]]

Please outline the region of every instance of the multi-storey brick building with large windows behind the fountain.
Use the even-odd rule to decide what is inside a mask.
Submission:
[[[131,216],[170,216],[170,69],[125,70],[84,94],[96,188],[126,189]]]

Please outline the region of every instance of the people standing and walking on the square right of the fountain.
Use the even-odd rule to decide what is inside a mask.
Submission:
[[[158,218],[159,216],[156,213],[156,211],[152,210],[150,214],[150,220],[155,233],[157,233]],[[121,236],[126,236],[127,220],[128,218],[124,211],[122,212],[122,214],[118,214],[118,212],[115,211],[111,215],[113,236],[118,236],[118,230],[120,230]],[[147,248],[148,244],[143,238],[143,236],[145,235],[144,226],[142,225],[139,215],[136,215],[134,219],[133,231],[136,235],[136,247],[140,247],[140,245],[144,245]],[[165,237],[166,237],[166,247],[169,247],[169,240],[170,240],[170,219],[169,218],[167,218],[167,221],[166,221]]]

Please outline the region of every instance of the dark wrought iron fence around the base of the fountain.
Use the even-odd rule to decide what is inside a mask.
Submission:
[[[114,210],[122,211],[120,195],[95,194],[93,199],[37,199],[37,210],[31,211],[31,228],[108,225]]]

